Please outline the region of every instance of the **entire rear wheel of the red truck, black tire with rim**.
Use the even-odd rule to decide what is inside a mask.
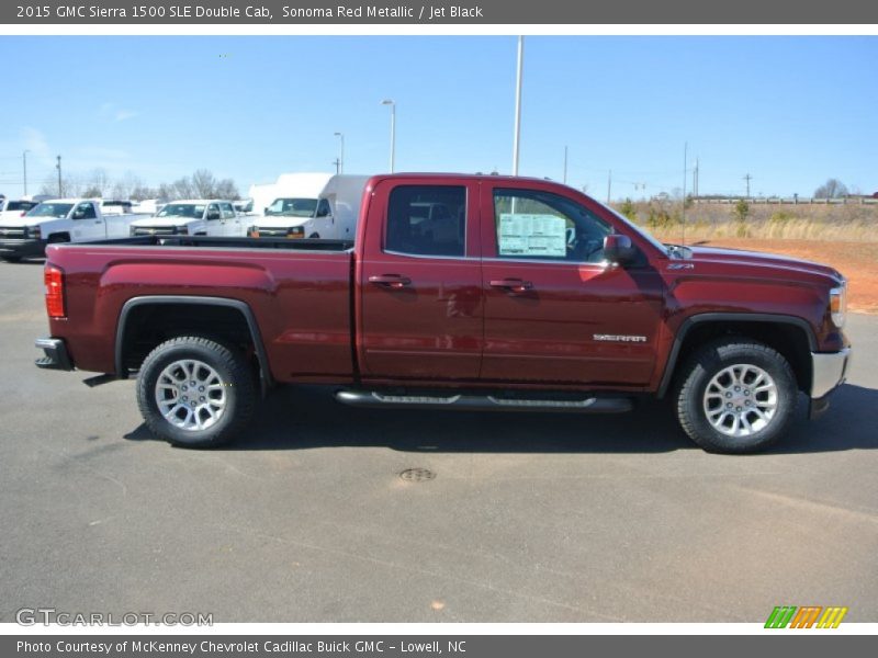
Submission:
[[[179,381],[189,363],[201,364],[200,370],[192,366],[190,376],[203,384],[191,394],[188,382]],[[222,397],[217,397],[219,394]],[[193,407],[192,416],[182,402],[190,395],[193,397],[187,404]],[[159,397],[164,397],[166,412],[177,424],[159,409]],[[182,447],[215,447],[229,442],[249,422],[256,399],[254,373],[245,358],[237,350],[200,336],[181,336],[161,343],[144,360],[137,377],[137,406],[147,427],[157,436]],[[193,428],[192,423],[205,427]]]

